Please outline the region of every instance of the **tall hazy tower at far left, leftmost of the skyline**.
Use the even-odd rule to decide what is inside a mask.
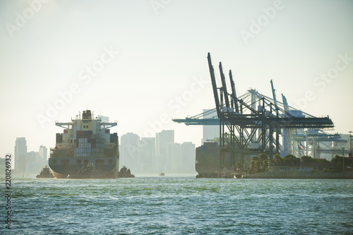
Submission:
[[[16,138],[15,171],[18,174],[27,174],[27,142],[24,137]]]

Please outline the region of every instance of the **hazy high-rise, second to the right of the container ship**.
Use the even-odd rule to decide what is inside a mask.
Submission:
[[[155,138],[141,138],[139,164],[141,173],[155,173]]]

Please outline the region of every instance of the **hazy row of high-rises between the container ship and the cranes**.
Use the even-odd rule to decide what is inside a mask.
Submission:
[[[191,142],[176,143],[174,130],[163,130],[155,137],[142,137],[136,133],[121,135],[119,164],[133,174],[193,174],[196,147]]]

